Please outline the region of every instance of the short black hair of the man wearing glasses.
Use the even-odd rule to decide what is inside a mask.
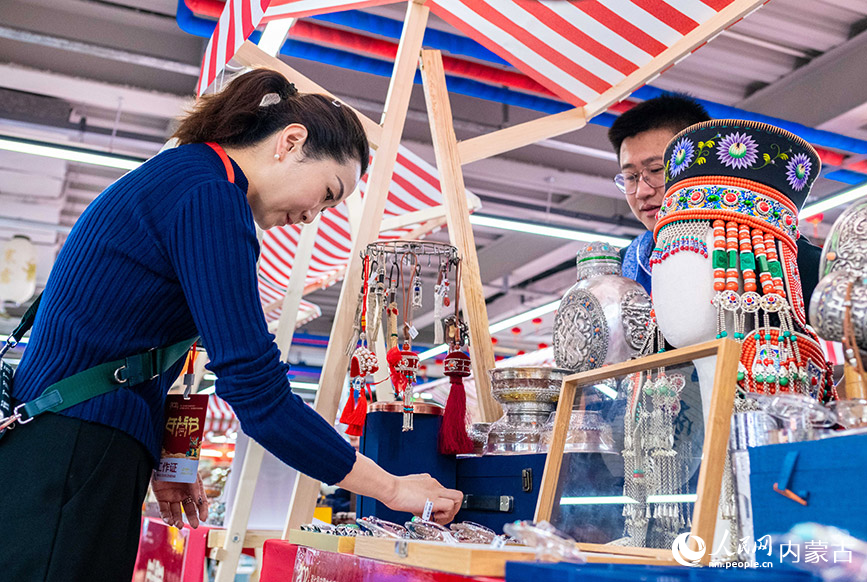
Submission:
[[[678,133],[690,125],[710,120],[704,106],[686,95],[666,94],[642,101],[614,120],[608,140],[620,159],[623,140],[645,131],[670,129]]]

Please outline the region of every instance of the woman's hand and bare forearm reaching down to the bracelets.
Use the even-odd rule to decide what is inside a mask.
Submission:
[[[428,474],[395,477],[361,453],[356,454],[352,471],[339,485],[414,515],[422,515],[425,502],[430,500],[434,504],[431,519],[441,524],[454,519],[464,499],[460,491],[446,489]]]

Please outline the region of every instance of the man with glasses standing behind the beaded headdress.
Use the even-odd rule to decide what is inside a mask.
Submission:
[[[608,130],[608,139],[620,162],[620,173],[614,177],[614,183],[626,196],[632,213],[647,228],[647,232],[620,252],[623,276],[640,283],[648,293],[653,227],[665,195],[665,146],[681,130],[709,120],[707,111],[696,100],[663,95],[626,111]],[[819,282],[821,253],[822,249],[803,235],[798,239],[798,270],[808,311],[813,289]]]

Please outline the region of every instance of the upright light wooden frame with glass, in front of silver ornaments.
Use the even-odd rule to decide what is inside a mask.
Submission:
[[[739,343],[729,339],[720,339],[630,360],[622,364],[572,374],[564,378],[560,399],[557,403],[554,430],[548,448],[548,457],[545,460],[545,471],[542,475],[542,485],[539,490],[534,519],[536,521],[550,521],[554,504],[557,502],[557,486],[562,468],[567,430],[575,395],[579,387],[594,385],[605,380],[636,372],[717,356],[710,407],[705,424],[702,463],[699,468],[698,488],[696,492],[697,498],[693,510],[692,529],[690,531],[692,536],[700,537],[709,546],[713,544],[717,508],[719,506],[720,489],[722,487],[723,468],[725,465],[724,459],[728,449],[729,429],[732,408],[734,407],[740,353],[741,346]],[[653,549],[581,543],[578,546],[581,550],[591,554],[617,553],[647,559],[655,563],[659,563],[659,560],[670,561],[672,558],[671,549],[667,548]],[[710,554],[710,551],[705,554],[702,558],[703,563],[706,564],[710,561]]]

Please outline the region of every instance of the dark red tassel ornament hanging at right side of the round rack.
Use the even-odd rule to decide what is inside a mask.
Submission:
[[[460,273],[460,263],[458,263]],[[460,279],[457,279],[458,281]],[[449,353],[443,362],[443,374],[449,378],[449,398],[443,413],[438,439],[439,452],[443,455],[462,455],[473,452],[473,441],[467,434],[467,393],[464,378],[472,372],[470,357],[462,351],[465,332],[458,311],[460,306],[460,286],[455,296],[454,323],[450,324],[448,335],[453,338]]]

